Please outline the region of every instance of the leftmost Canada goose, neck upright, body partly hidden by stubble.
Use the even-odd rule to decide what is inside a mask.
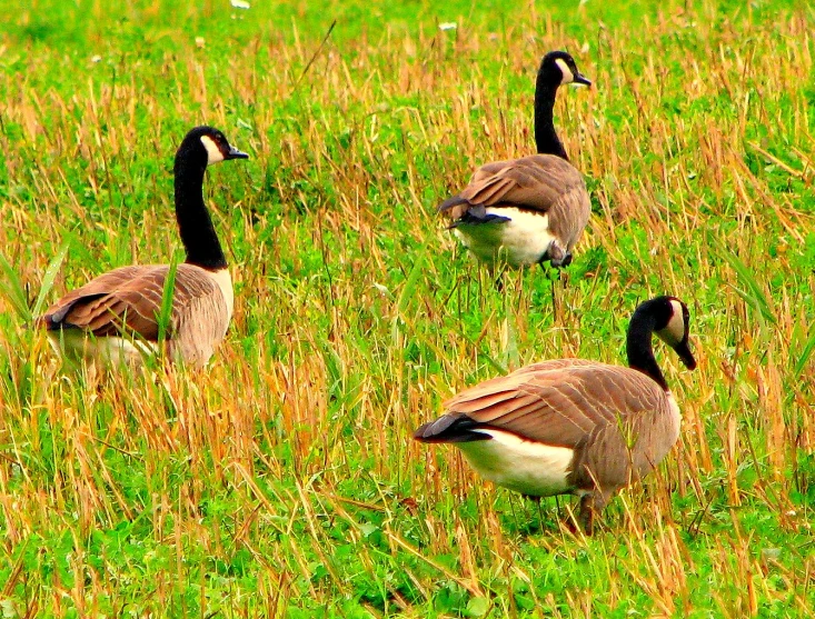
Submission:
[[[176,152],[176,219],[187,259],[178,264],[163,346],[173,359],[205,365],[232,317],[232,280],[203,203],[210,163],[248,159],[212,127],[196,127]],[[69,358],[139,365],[158,348],[168,264],[122,267],[69,292],[39,317],[54,347]]]

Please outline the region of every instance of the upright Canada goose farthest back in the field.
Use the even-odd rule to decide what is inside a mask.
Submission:
[[[458,196],[438,210],[476,258],[490,266],[572,262],[572,248],[588,222],[586,183],[569,163],[555,132],[553,109],[559,86],[592,82],[565,51],[540,62],[535,86],[535,142],[538,154],[487,163]]]

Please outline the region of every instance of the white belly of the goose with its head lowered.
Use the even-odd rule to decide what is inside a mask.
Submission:
[[[456,443],[470,466],[504,488],[533,497],[572,491],[567,481],[574,450],[524,440],[510,432],[478,430],[490,440]]]

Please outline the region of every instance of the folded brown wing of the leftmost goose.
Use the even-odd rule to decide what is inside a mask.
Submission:
[[[158,340],[158,316],[169,267],[135,266],[115,269],[69,292],[38,319],[48,330],[77,328],[97,337],[136,332]],[[221,294],[218,286],[199,267],[179,264],[172,294],[167,337],[196,300]]]

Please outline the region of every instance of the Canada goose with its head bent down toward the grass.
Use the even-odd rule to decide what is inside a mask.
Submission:
[[[533,363],[461,391],[414,433],[451,442],[490,481],[530,497],[580,497],[580,523],[639,480],[679,437],[679,408],[654,359],[652,333],[689,369],[689,315],[675,297],[643,302],[628,326],[628,366],[585,359]]]

